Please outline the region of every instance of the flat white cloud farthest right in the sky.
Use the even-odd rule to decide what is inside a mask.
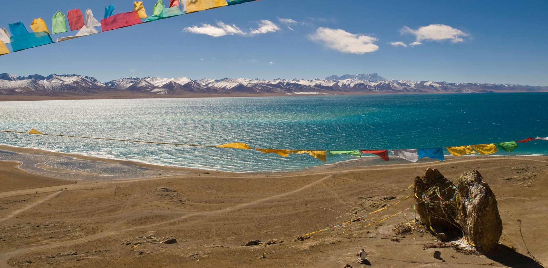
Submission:
[[[459,29],[455,29],[451,26],[443,24],[431,24],[429,26],[420,27],[417,30],[413,30],[412,28],[403,26],[403,28],[399,30],[399,32],[401,32],[402,34],[413,34],[416,38],[414,42],[416,43],[415,45],[420,44],[420,42],[423,40],[438,42],[441,42],[443,40],[451,40],[452,43],[459,43],[464,42],[463,37],[469,36],[469,34]]]

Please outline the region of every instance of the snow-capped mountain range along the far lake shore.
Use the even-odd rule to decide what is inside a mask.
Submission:
[[[27,77],[0,74],[0,100],[8,96],[94,98],[184,97],[213,94],[267,95],[340,95],[397,93],[474,93],[474,92],[546,92],[548,86],[493,83],[447,83],[437,81],[387,80],[380,75],[332,75],[326,79],[248,79],[223,78],[192,80],[186,77],[128,77],[101,83],[78,74],[39,74]],[[2,97],[4,96],[4,97]],[[13,98],[13,97],[12,97]],[[105,97],[106,98],[106,97]]]

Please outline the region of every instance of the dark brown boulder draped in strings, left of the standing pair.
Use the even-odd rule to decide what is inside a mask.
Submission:
[[[460,232],[453,202],[456,187],[438,170],[429,167],[424,176],[416,177],[413,194],[416,212],[427,227],[437,232]]]

